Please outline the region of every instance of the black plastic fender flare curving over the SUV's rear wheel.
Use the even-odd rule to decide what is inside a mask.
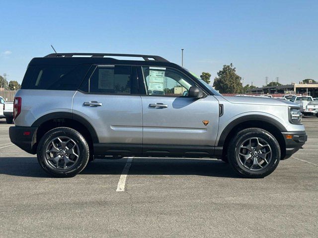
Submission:
[[[36,121],[33,122],[33,124],[31,126],[32,127],[39,127],[44,122],[46,122],[48,120],[52,120],[52,119],[72,119],[72,120],[78,121],[80,124],[84,125],[87,128],[87,130],[89,131],[90,136],[93,140],[93,143],[99,143],[96,130],[91,125],[91,123],[89,121],[87,121],[86,119],[84,119],[83,117],[81,117],[77,114],[74,114],[74,113],[69,113],[69,112],[49,113],[49,114],[46,114],[46,115],[38,118]]]

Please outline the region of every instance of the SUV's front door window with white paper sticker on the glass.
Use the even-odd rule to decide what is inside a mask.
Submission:
[[[194,86],[182,73],[164,67],[143,67],[144,81],[148,95],[187,96]]]

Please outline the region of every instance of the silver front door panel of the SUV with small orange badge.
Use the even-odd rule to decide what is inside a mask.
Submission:
[[[219,123],[219,102],[213,96],[142,96],[143,145],[214,146]],[[154,107],[152,104],[159,104]],[[163,107],[160,107],[160,104]],[[203,120],[209,120],[204,125]]]

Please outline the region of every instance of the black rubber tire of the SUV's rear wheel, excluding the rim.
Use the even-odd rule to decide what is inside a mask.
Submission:
[[[59,136],[67,136],[74,140],[79,146],[79,159],[76,165],[66,170],[55,170],[46,160],[46,147],[50,141]],[[89,148],[84,137],[76,130],[68,127],[58,127],[48,131],[40,140],[37,148],[37,158],[41,167],[49,174],[56,177],[73,177],[80,173],[88,163]]]

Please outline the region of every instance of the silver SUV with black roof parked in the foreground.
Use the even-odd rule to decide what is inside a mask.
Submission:
[[[158,56],[67,53],[31,60],[9,134],[56,177],[141,156],[218,158],[262,178],[304,145],[301,118],[292,102],[224,97]]]

